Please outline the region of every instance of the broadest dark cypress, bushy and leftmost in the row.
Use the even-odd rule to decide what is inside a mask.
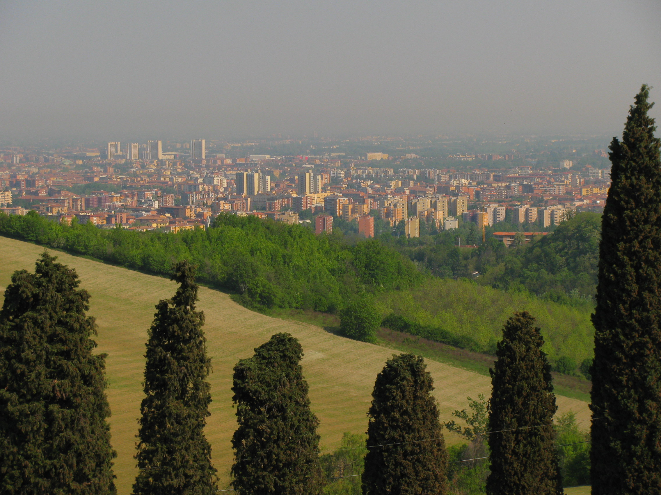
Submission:
[[[105,354],[89,294],[44,253],[0,312],[0,492],[114,494]]]

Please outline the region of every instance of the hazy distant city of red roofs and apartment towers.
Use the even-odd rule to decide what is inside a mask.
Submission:
[[[610,185],[608,168],[582,164],[594,162],[585,156],[604,161],[603,149],[566,150],[571,159],[547,157],[539,165],[538,158],[516,149],[422,156],[410,147],[395,154],[387,142],[383,148],[389,152],[356,152],[355,146],[352,152],[334,152],[340,144],[314,139],[315,145],[268,143],[275,150],[292,143],[305,144],[309,152],[319,149],[317,154],[279,156],[251,152],[263,143],[215,141],[209,150],[205,139],[108,141],[85,149],[4,147],[0,205],[8,214],[34,210],[65,224],[75,218],[101,228],[121,224],[163,232],[206,228],[215,215],[226,212],[288,224],[311,222],[318,234],[332,232],[333,220],[341,218],[355,221],[358,232],[369,238],[380,219],[393,228],[403,226],[404,234],[414,238],[421,224],[442,231],[473,222],[484,232],[506,219],[544,231],[569,212],[601,211]],[[372,147],[381,145],[369,140]],[[514,240],[513,232],[494,236],[505,244]]]

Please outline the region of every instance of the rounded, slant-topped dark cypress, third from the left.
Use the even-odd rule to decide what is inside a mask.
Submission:
[[[234,368],[233,487],[240,494],[317,495],[323,487],[319,420],[298,364],[303,348],[277,333]]]

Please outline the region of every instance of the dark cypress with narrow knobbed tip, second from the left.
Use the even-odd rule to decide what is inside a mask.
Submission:
[[[198,495],[217,490],[211,446],[204,436],[210,415],[211,364],[195,310],[195,267],[175,265],[175,297],[161,300],[149,329],[145,397],[140,407],[136,495]]]

